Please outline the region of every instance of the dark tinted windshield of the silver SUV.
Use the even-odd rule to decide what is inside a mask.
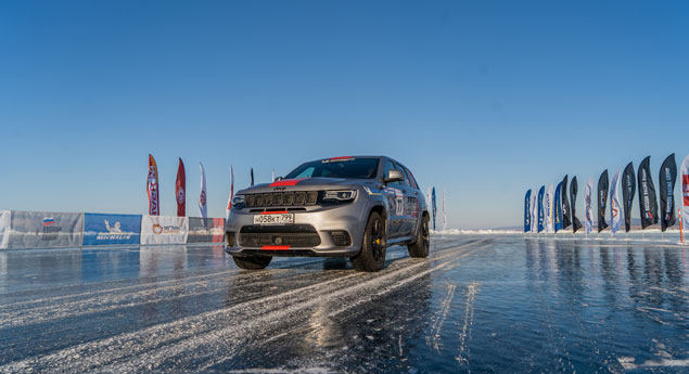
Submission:
[[[286,175],[285,179],[295,178],[352,178],[371,179],[378,175],[378,158],[330,158],[303,164]]]

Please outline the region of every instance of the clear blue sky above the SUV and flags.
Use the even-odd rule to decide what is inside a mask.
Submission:
[[[687,40],[686,1],[3,1],[0,209],[145,212],[152,153],[163,214],[182,157],[221,217],[230,164],[385,154],[450,227],[519,225],[528,188],[681,163]]]

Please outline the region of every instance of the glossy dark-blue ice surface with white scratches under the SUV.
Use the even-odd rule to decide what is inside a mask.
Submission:
[[[0,372],[687,373],[688,250],[446,235],[379,273],[246,272],[221,247],[0,253]]]

